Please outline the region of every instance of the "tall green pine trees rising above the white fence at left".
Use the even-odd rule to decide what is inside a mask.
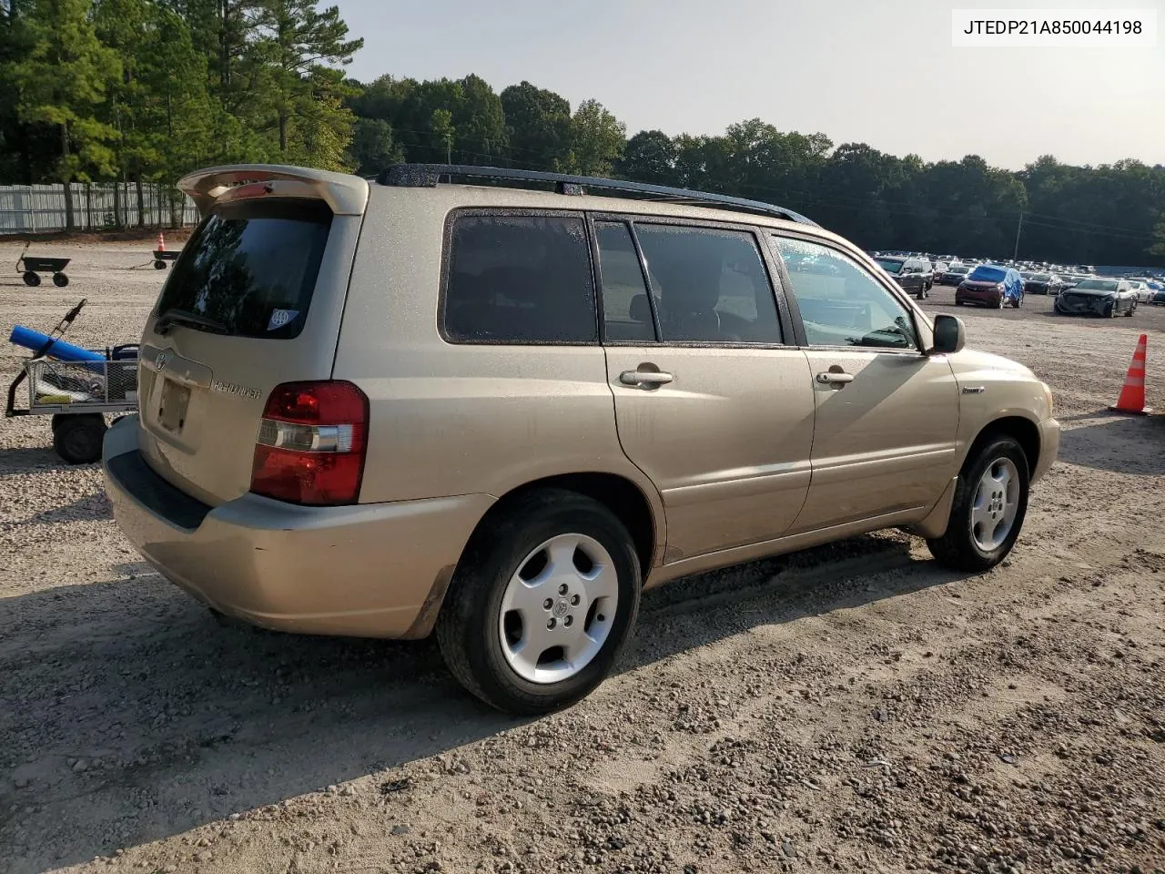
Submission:
[[[362,42],[316,0],[7,5],[0,178],[172,184],[241,161],[348,169],[359,89],[336,68]]]

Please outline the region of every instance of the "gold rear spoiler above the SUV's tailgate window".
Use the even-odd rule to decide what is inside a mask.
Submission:
[[[205,216],[220,200],[240,197],[315,197],[337,216],[362,216],[368,183],[359,176],[283,164],[231,164],[195,170],[178,179]]]

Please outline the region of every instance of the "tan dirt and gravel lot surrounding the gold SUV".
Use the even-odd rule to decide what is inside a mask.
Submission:
[[[86,296],[71,339],[137,338],[140,245],[38,248],[73,284],[0,281],[0,329]],[[883,533],[683,580],[619,676],[532,721],[431,642],[218,626],[137,561],[96,467],[5,422],[0,872],[1165,868],[1165,417],[1104,411],[1141,331],[1165,407],[1165,309],[1048,309],[958,310],[1066,429],[1003,566]]]

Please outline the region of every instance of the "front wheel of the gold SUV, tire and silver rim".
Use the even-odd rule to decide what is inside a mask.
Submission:
[[[1015,547],[1028,514],[1028,457],[1014,437],[990,439],[959,472],[946,533],[926,541],[939,564],[986,571]]]

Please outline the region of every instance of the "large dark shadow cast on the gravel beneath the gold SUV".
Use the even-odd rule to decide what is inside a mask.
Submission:
[[[956,579],[912,558],[904,535],[883,533],[676,580],[644,593],[619,670]],[[595,693],[599,706],[617,683]],[[432,639],[224,626],[153,572],[6,599],[0,700],[0,846],[13,874],[91,860],[531,721],[464,692]],[[41,830],[56,824],[44,845],[22,843],[20,824],[34,818]]]

